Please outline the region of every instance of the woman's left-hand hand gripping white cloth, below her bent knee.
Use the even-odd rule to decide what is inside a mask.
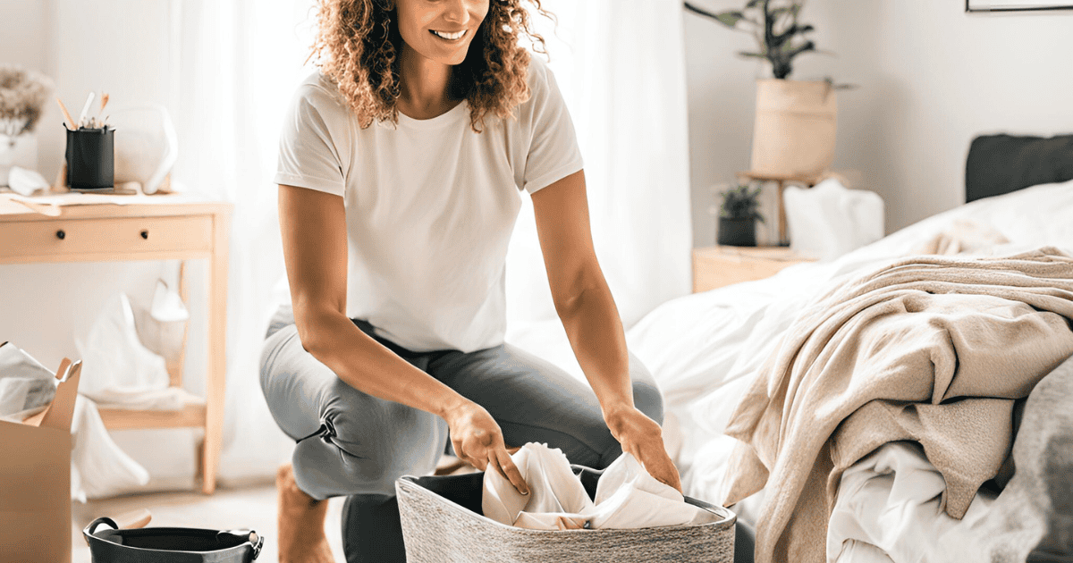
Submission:
[[[488,411],[472,401],[464,401],[447,410],[444,419],[458,459],[481,471],[490,468],[511,481],[518,492],[529,494],[529,486],[506,451],[503,432]]]

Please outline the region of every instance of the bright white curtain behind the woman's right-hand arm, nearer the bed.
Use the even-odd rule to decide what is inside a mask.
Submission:
[[[691,287],[681,3],[542,5],[558,19],[535,21],[577,130],[597,257],[629,329]],[[506,339],[583,377],[555,314],[528,198],[515,228]]]

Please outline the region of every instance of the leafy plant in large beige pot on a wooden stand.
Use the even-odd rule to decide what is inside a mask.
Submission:
[[[686,2],[693,13],[756,39],[756,51],[744,57],[770,63],[774,78],[756,80],[752,171],[787,177],[815,177],[835,159],[836,89],[829,78],[791,80],[798,55],[815,51],[806,38],[812,26],[798,23],[804,0],[748,0],[741,10],[714,13]]]

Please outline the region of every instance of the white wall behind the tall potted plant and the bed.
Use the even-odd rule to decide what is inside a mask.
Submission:
[[[700,0],[714,10],[736,0]],[[833,76],[835,169],[886,202],[888,232],[965,198],[972,137],[1073,132],[1073,13],[966,14],[961,0],[812,0],[802,21],[837,57],[804,55],[797,79]],[[686,15],[694,246],[714,240],[708,187],[749,165],[759,66],[752,39]]]

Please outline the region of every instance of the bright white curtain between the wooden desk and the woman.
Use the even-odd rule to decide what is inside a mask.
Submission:
[[[310,0],[172,0],[177,26],[175,177],[232,202],[227,387],[219,479],[275,474],[294,447],[260,387],[259,359],[283,276],[276,171],[282,114],[312,39]],[[210,344],[212,345],[212,344]]]

